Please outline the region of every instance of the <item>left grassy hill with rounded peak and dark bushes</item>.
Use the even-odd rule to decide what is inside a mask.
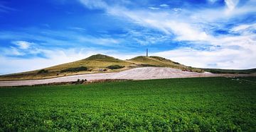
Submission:
[[[23,73],[14,73],[10,75],[0,76],[0,80],[43,79],[78,75],[84,73],[117,72],[125,70],[130,66],[135,65],[129,61],[115,59],[112,56],[96,54],[86,59],[73,61],[67,64],[51,66],[36,71],[28,71]]]

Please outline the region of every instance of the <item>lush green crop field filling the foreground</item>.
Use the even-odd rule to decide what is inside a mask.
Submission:
[[[256,131],[256,78],[0,88],[0,131]]]

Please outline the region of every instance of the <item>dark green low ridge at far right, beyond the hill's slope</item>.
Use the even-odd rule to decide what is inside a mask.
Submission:
[[[228,70],[228,69],[220,69],[220,68],[203,68],[203,70],[208,71],[210,73],[235,73],[235,74],[250,74],[256,73],[256,68],[246,69],[246,70]]]

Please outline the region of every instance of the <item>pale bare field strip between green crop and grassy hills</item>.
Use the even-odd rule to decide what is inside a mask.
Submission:
[[[11,80],[0,81],[0,86],[18,86],[18,85],[38,85],[46,83],[70,82],[75,80],[101,80],[101,79],[132,79],[132,80],[147,80],[160,78],[192,78],[192,77],[211,77],[211,76],[256,76],[243,74],[213,74],[213,73],[196,73],[189,71],[181,71],[175,68],[159,68],[159,67],[144,67],[132,68],[119,73],[92,73],[78,76],[65,76],[60,78],[50,78],[42,80]]]

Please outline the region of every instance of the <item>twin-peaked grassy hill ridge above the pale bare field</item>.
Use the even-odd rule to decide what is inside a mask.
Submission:
[[[121,60],[116,59],[112,56],[96,54],[86,59],[81,59],[79,61],[51,66],[36,71],[27,71],[23,73],[14,73],[0,76],[0,80],[30,80],[72,76],[85,73],[118,72],[129,68],[146,66],[170,67],[181,69],[183,71],[195,72],[209,71],[211,73],[256,73],[256,69],[223,70],[209,68],[193,68],[191,66],[185,66],[183,64],[179,64],[178,62],[171,61],[160,56],[137,56],[132,59]]]

